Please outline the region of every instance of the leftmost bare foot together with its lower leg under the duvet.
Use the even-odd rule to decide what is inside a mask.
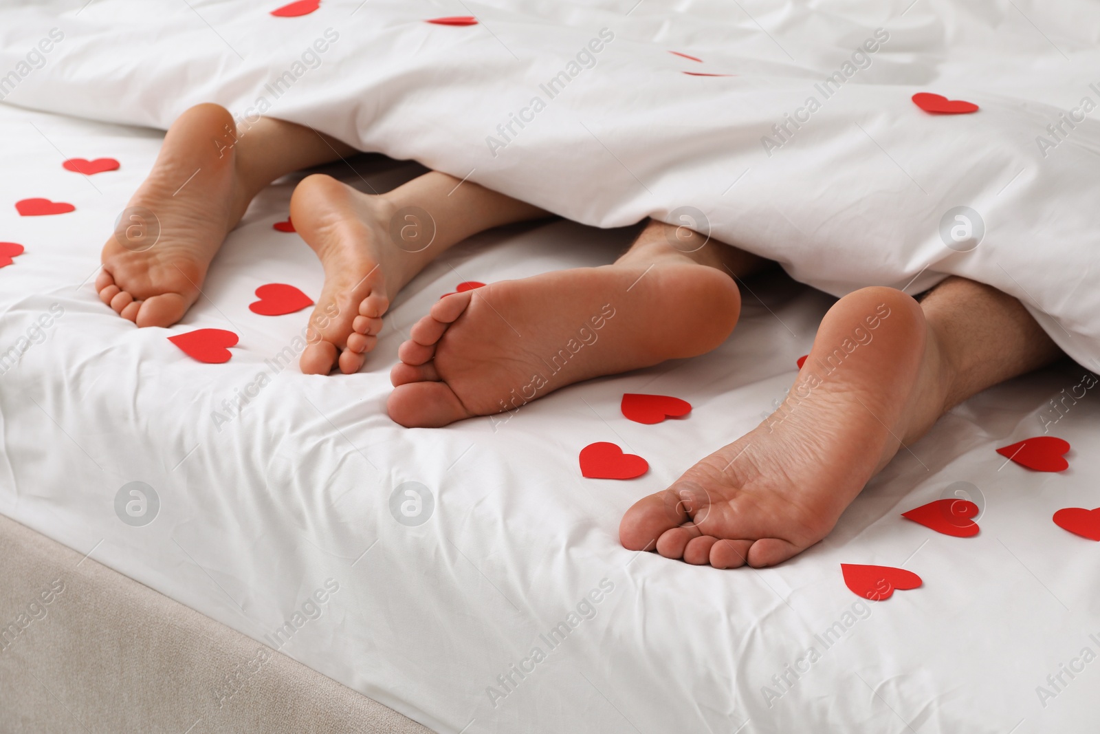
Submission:
[[[172,326],[198,298],[210,261],[261,189],[351,152],[290,122],[262,118],[238,131],[224,108],[193,107],[168,130],[103,247],[99,297],[140,327]]]

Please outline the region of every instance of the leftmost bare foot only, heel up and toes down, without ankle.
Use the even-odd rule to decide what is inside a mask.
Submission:
[[[199,105],[165,135],[148,178],[103,245],[96,278],[99,297],[123,318],[172,326],[198,298],[210,261],[251,198],[237,173],[234,130],[224,108]]]

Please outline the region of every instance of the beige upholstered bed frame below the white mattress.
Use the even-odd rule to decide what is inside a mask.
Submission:
[[[0,515],[0,732],[429,730]]]

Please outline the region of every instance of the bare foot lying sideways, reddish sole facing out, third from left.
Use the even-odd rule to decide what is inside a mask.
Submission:
[[[675,259],[493,283],[447,296],[413,327],[386,406],[407,427],[516,409],[580,380],[710,351],[739,311],[729,276]]]

